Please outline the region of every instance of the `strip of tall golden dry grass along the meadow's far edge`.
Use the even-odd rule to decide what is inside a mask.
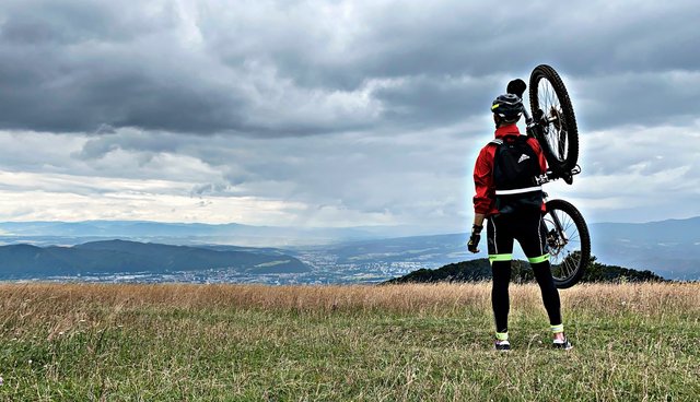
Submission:
[[[294,309],[308,312],[386,310],[445,314],[465,307],[490,308],[490,283],[408,284],[388,286],[267,286],[190,284],[3,284],[3,311],[30,318],[65,315],[80,306],[117,309],[170,307]],[[632,311],[658,315],[700,308],[700,284],[582,284],[560,291],[562,303],[602,314]],[[538,308],[539,289],[511,285],[511,298],[523,308]],[[45,311],[40,311],[46,308]],[[38,310],[37,310],[38,309]],[[79,309],[79,308],[78,308]],[[7,317],[7,316],[5,316]]]

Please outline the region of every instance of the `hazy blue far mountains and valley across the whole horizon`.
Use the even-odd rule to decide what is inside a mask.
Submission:
[[[600,262],[650,270],[673,280],[700,280],[700,216],[643,224],[598,223],[590,224],[588,228],[592,252]],[[341,277],[352,272],[353,277],[372,273],[375,279],[487,257],[485,239],[481,252],[467,252],[465,245],[469,236],[465,233],[397,237],[416,232],[389,226],[290,228],[130,221],[10,222],[0,223],[0,244],[72,246],[121,238],[211,251],[285,255],[299,258],[317,271],[346,272]],[[283,247],[285,251],[270,247]],[[515,257],[524,259],[518,255],[520,248],[515,250]]]

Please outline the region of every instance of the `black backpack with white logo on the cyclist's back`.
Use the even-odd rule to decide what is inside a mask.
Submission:
[[[542,206],[539,158],[525,135],[506,135],[491,141],[497,145],[493,157],[495,208],[502,214],[539,211]]]

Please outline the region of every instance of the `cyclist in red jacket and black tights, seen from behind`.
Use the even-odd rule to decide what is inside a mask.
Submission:
[[[552,280],[546,247],[546,228],[541,224],[545,211],[541,187],[533,178],[547,172],[547,162],[537,140],[521,135],[517,121],[523,114],[522,93],[500,95],[491,111],[495,122],[495,139],[479,153],[474,168],[475,218],[468,249],[478,252],[480,233],[487,221],[489,261],[493,274],[491,303],[495,318],[495,348],[511,348],[508,334],[510,310],[509,283],[513,241],[517,240],[527,257],[541,291],[549,316],[552,344],[557,348],[573,346],[564,335],[559,292]],[[513,82],[511,82],[513,84]],[[511,92],[509,84],[509,92]],[[518,83],[520,84],[520,83]]]

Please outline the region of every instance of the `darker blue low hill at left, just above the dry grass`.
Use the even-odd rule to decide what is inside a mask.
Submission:
[[[124,240],[94,241],[74,247],[0,247],[0,280],[224,268],[249,274],[301,273],[311,270],[299,259],[279,252],[215,250]]]

